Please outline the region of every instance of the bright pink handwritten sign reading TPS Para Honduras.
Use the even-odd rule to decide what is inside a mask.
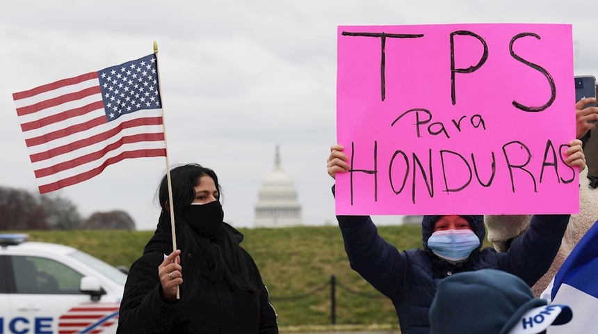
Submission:
[[[337,214],[579,211],[572,26],[339,26]]]

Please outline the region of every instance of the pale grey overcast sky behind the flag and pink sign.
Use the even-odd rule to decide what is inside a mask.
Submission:
[[[12,93],[147,54],[158,42],[170,164],[213,168],[225,220],[251,227],[280,145],[302,218],[335,222],[339,25],[573,24],[575,74],[598,75],[598,1],[10,1],[0,10],[0,185],[37,191]],[[155,228],[163,158],[129,159],[60,190],[84,217],[122,209]],[[378,217],[380,223],[398,218]]]

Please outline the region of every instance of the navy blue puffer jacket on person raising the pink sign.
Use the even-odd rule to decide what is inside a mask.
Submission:
[[[463,216],[483,241],[483,216]],[[337,216],[351,268],[391,299],[401,333],[428,334],[428,311],[439,280],[460,271],[499,269],[522,278],[530,287],[549,269],[569,222],[569,215],[536,215],[530,228],[506,253],[494,248],[474,250],[469,258],[451,264],[428,248],[433,223],[439,216],[424,216],[423,249],[399,252],[378,234],[369,216]],[[480,245],[482,243],[480,242]]]

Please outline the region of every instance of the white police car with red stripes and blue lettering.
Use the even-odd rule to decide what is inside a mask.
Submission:
[[[0,234],[0,334],[116,333],[126,280],[75,248]]]

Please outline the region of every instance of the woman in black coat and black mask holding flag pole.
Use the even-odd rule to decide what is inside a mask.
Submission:
[[[278,333],[268,290],[239,246],[243,234],[223,222],[216,173],[197,164],[170,170],[172,205],[168,183],[165,175],[156,232],[129,271],[118,333]]]

